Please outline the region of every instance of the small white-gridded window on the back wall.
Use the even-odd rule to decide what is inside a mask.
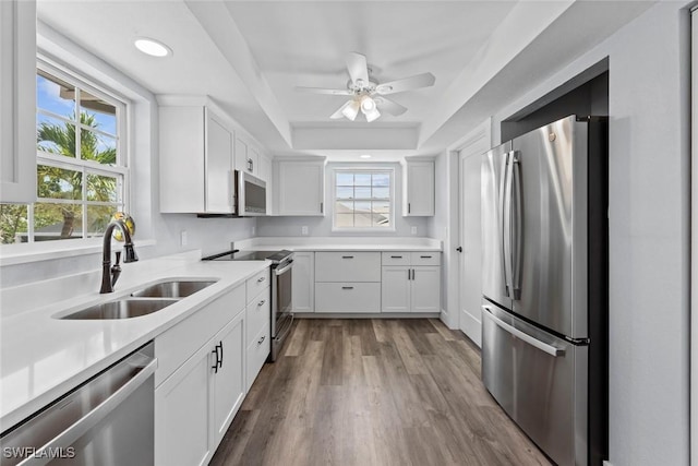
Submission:
[[[334,229],[393,229],[393,170],[334,171]]]

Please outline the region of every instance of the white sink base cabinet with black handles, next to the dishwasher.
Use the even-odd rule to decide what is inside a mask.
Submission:
[[[245,394],[245,286],[155,338],[156,465],[206,464]]]

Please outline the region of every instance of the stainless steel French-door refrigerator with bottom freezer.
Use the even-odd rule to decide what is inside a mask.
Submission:
[[[606,141],[570,116],[482,160],[482,379],[558,465],[607,457]]]

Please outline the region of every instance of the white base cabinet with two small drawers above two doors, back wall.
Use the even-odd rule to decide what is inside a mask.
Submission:
[[[384,252],[382,261],[381,312],[441,311],[441,253]]]

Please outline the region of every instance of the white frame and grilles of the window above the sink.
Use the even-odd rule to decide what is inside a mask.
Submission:
[[[74,171],[80,171],[82,174],[82,195],[80,200],[61,200],[61,199],[52,199],[52,198],[39,198],[38,196],[38,181],[37,181],[37,198],[36,201],[32,204],[27,205],[27,241],[23,243],[10,243],[3,244],[3,248],[7,247],[23,247],[31,248],[28,244],[61,244],[61,243],[70,243],[72,246],[83,244],[89,246],[95,241],[101,241],[101,235],[91,235],[88,228],[88,208],[92,205],[121,205],[121,210],[129,212],[130,206],[130,178],[131,172],[129,169],[129,159],[130,159],[130,145],[129,145],[129,115],[130,115],[130,105],[131,101],[127,97],[119,95],[112,91],[110,91],[107,86],[98,84],[96,81],[91,80],[83,73],[70,71],[67,67],[57,63],[53,60],[50,60],[46,57],[43,57],[40,53],[37,53],[36,60],[36,71],[35,76],[38,75],[39,70],[55,76],[58,80],[64,81],[67,84],[70,84],[75,87],[75,109],[80,109],[80,93],[87,92],[88,94],[98,97],[106,103],[113,105],[116,109],[116,134],[110,134],[105,131],[100,131],[93,128],[87,128],[80,122],[80,118],[76,118],[75,121],[65,118],[64,116],[53,113],[47,109],[39,107],[39,101],[36,101],[35,115],[44,115],[50,117],[60,122],[69,122],[74,124],[75,127],[75,138],[76,138],[76,146],[80,147],[80,139],[82,136],[82,131],[91,131],[96,134],[104,134],[109,138],[113,138],[116,152],[117,152],[117,160],[113,166],[103,165],[96,163],[94,160],[82,158],[81,154],[75,154],[75,157],[67,157],[57,154],[51,154],[49,152],[41,151],[40,148],[36,148],[36,165],[37,171],[35,172],[35,177],[38,175],[38,166],[50,166],[61,169],[70,169]],[[79,113],[77,113],[79,115]],[[76,116],[77,116],[76,115]],[[37,127],[38,128],[38,127]],[[76,151],[79,152],[79,151]],[[108,176],[115,177],[117,179],[117,183],[121,187],[120,200],[118,199],[116,202],[104,202],[104,201],[89,201],[87,199],[87,176],[88,175],[97,175],[97,176]],[[81,205],[82,216],[81,216],[81,232],[79,237],[70,238],[70,241],[61,240],[60,238],[36,241],[36,231],[35,231],[35,219],[34,219],[34,210],[37,203],[50,203],[50,204],[77,204]]]

